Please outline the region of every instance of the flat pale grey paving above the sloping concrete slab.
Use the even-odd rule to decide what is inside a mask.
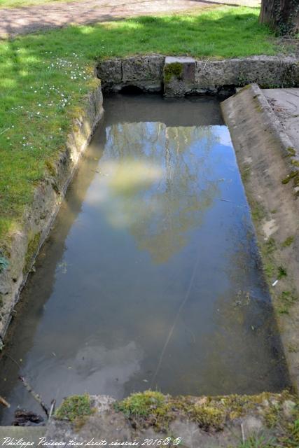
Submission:
[[[299,89],[263,89],[263,93],[299,151]]]

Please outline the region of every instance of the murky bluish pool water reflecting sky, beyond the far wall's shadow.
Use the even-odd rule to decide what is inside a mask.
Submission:
[[[9,353],[46,402],[286,386],[225,126],[106,123],[43,251]],[[3,372],[4,422],[39,412],[9,359]]]

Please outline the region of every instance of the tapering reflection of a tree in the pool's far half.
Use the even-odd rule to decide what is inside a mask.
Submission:
[[[208,180],[217,134],[162,123],[122,123],[106,132],[102,162],[117,161],[109,193],[120,199],[120,221],[141,250],[165,262],[186,244],[218,191],[217,181]]]

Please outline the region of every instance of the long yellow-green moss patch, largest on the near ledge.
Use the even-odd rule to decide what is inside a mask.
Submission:
[[[215,397],[171,397],[160,392],[134,393],[114,409],[123,412],[134,428],[153,426],[155,430],[168,430],[169,422],[176,418],[194,421],[205,431],[222,430],[225,422],[239,419],[248,413],[258,412],[266,426],[274,427],[284,421],[282,403],[294,399],[287,391],[281,394],[226,395]]]

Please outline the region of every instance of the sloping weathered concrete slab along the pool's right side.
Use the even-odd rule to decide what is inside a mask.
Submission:
[[[299,222],[299,188],[292,183],[291,174],[294,167],[299,166],[299,155],[258,85],[248,85],[239,90],[221,103],[221,109],[230,130],[246,196],[253,212],[263,267],[267,271],[267,264],[274,263],[288,269],[287,276],[276,284],[274,281],[277,276],[272,276],[272,279],[265,276],[291,381],[298,393],[299,235],[296,223]],[[256,213],[257,208],[262,210],[263,216]],[[291,230],[295,241],[291,247],[283,247],[283,241],[290,236]],[[268,253],[267,243],[270,239],[277,244],[273,253]],[[292,291],[295,295],[291,314],[281,314],[281,295],[286,291]]]

